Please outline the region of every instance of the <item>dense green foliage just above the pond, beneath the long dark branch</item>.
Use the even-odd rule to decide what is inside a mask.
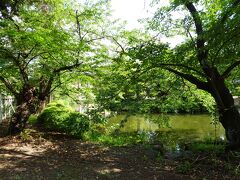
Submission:
[[[132,113],[200,113],[207,112],[212,101],[209,94],[163,71],[133,72],[123,64],[111,76],[102,76],[97,103],[117,112]],[[133,64],[131,68],[134,68]],[[130,70],[131,71],[131,70]],[[143,70],[144,71],[144,70]],[[125,74],[125,75],[121,75]],[[111,78],[109,78],[111,77]]]

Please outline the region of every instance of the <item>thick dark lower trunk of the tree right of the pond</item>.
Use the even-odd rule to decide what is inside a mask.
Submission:
[[[211,94],[217,104],[219,121],[225,129],[228,140],[227,149],[240,149],[240,114],[224,79],[218,74],[215,75],[211,81]]]

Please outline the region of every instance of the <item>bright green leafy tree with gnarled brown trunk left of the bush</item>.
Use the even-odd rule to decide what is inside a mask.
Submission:
[[[0,81],[16,99],[11,134],[22,131],[63,83],[60,75],[93,68],[108,13],[105,1],[17,2],[5,2],[0,9]]]

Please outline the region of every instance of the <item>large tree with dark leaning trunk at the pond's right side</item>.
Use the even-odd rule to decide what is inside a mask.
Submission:
[[[184,36],[185,41],[170,48],[155,36],[129,49],[144,71],[164,69],[210,93],[229,148],[240,148],[240,115],[227,81],[231,74],[239,77],[239,11],[239,0],[171,1],[157,10],[148,28],[151,33]]]

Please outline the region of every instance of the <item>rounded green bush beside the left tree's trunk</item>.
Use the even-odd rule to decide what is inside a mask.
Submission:
[[[71,107],[61,102],[50,103],[38,116],[38,122],[48,130],[64,132],[80,138],[89,130],[89,118],[74,112]]]

